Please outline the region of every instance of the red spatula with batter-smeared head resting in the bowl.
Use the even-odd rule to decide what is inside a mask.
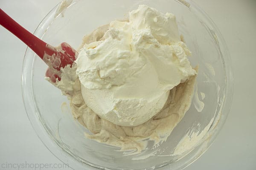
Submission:
[[[57,78],[58,80],[61,80],[61,68],[64,68],[67,65],[72,67],[77,52],[66,42],[61,43],[61,45],[56,48],[47,44],[20,26],[2,9],[0,9],[0,24],[28,45],[29,48],[43,59],[49,66],[46,76],[50,77],[52,82],[55,82]]]

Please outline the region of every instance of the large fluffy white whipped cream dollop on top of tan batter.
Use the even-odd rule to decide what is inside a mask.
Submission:
[[[113,21],[76,59],[86,105],[116,125],[137,126],[157,114],[169,91],[196,71],[175,16],[140,5],[129,21]]]

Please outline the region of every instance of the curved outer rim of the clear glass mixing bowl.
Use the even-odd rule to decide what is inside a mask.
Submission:
[[[215,25],[215,23],[212,21],[212,19],[209,17],[209,15],[201,8],[199,7],[195,2],[192,0],[175,0],[178,3],[182,3],[186,7],[189,8],[189,10],[194,10],[194,12],[198,12],[201,17],[204,17],[204,20],[207,22],[207,26],[211,30],[212,36],[216,36],[215,43],[218,45],[218,48],[221,52],[221,59],[223,61],[223,68],[224,68],[224,96],[222,96],[222,108],[220,111],[225,113],[224,115],[222,113],[219,113],[218,119],[215,119],[212,123],[212,126],[209,128],[207,134],[210,136],[204,137],[204,140],[201,141],[195,148],[194,156],[186,161],[184,164],[181,164],[177,166],[177,170],[184,169],[188,167],[190,164],[192,164],[194,161],[196,161],[208,148],[209,146],[215,141],[216,136],[222,129],[224,122],[227,119],[228,113],[230,111],[232,99],[233,99],[233,68],[232,68],[232,62],[230,58],[230,53],[228,51],[226,42]],[[58,3],[54,8],[52,8],[51,11],[44,17],[44,19],[41,21],[41,23],[38,25],[38,27],[35,29],[34,34],[38,33],[39,29],[46,28],[51,24],[52,20],[54,20],[54,14],[58,6],[61,4]],[[192,7],[192,8],[191,8]],[[26,52],[23,59],[23,65],[22,65],[22,75],[21,75],[21,90],[22,90],[22,98],[23,103],[25,106],[26,114],[29,118],[29,121],[35,130],[38,138],[41,140],[41,142],[47,147],[47,149],[61,162],[66,164],[68,167],[69,164],[67,162],[72,163],[72,169],[78,169],[78,168],[84,168],[84,165],[87,167],[90,167],[92,169],[108,169],[106,167],[100,167],[96,164],[92,164],[90,162],[82,162],[78,161],[73,158],[73,155],[71,153],[68,153],[67,150],[58,148],[56,150],[56,142],[54,142],[54,139],[52,139],[51,136],[49,136],[49,133],[47,133],[47,130],[44,128],[44,126],[39,125],[39,122],[41,121],[40,117],[37,116],[38,114],[35,114],[38,112],[36,105],[35,105],[35,99],[33,97],[33,92],[31,93],[32,89],[32,72],[28,73],[28,70],[33,70],[32,65],[29,65],[29,63],[34,63],[34,58],[28,58],[29,55],[35,55],[32,50],[30,50],[28,47],[26,48]],[[225,56],[225,57],[223,57]],[[228,63],[228,64],[226,64]],[[31,81],[31,82],[29,82]],[[218,126],[217,126],[218,125]],[[206,135],[207,135],[206,134]],[[57,146],[59,147],[59,146]],[[190,153],[189,153],[190,154]],[[70,156],[72,156],[72,159],[70,159]],[[78,164],[80,163],[80,164]],[[76,165],[74,165],[76,164]],[[169,166],[171,162],[166,163],[164,165],[160,165],[156,167],[157,169],[163,169]]]

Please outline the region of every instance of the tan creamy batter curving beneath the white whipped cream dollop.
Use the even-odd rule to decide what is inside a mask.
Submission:
[[[74,85],[73,96],[70,96],[70,107],[74,118],[93,133],[86,134],[88,138],[121,147],[121,150],[134,149],[139,153],[146,147],[144,139],[154,140],[156,144],[167,139],[191,105],[195,81],[196,76],[193,76],[173,88],[163,109],[147,122],[135,127],[115,125],[101,119],[88,108],[81,96],[79,79]]]

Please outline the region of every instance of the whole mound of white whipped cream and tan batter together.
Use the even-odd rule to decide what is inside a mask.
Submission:
[[[197,74],[189,55],[175,16],[140,5],[128,21],[85,36],[54,85],[88,138],[140,152],[145,139],[166,140],[189,109]]]

